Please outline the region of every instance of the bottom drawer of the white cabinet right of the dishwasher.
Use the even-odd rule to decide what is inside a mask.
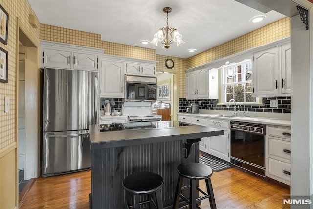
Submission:
[[[284,163],[272,158],[268,159],[268,174],[290,181],[290,175],[283,173],[283,171],[290,172],[290,163]]]

